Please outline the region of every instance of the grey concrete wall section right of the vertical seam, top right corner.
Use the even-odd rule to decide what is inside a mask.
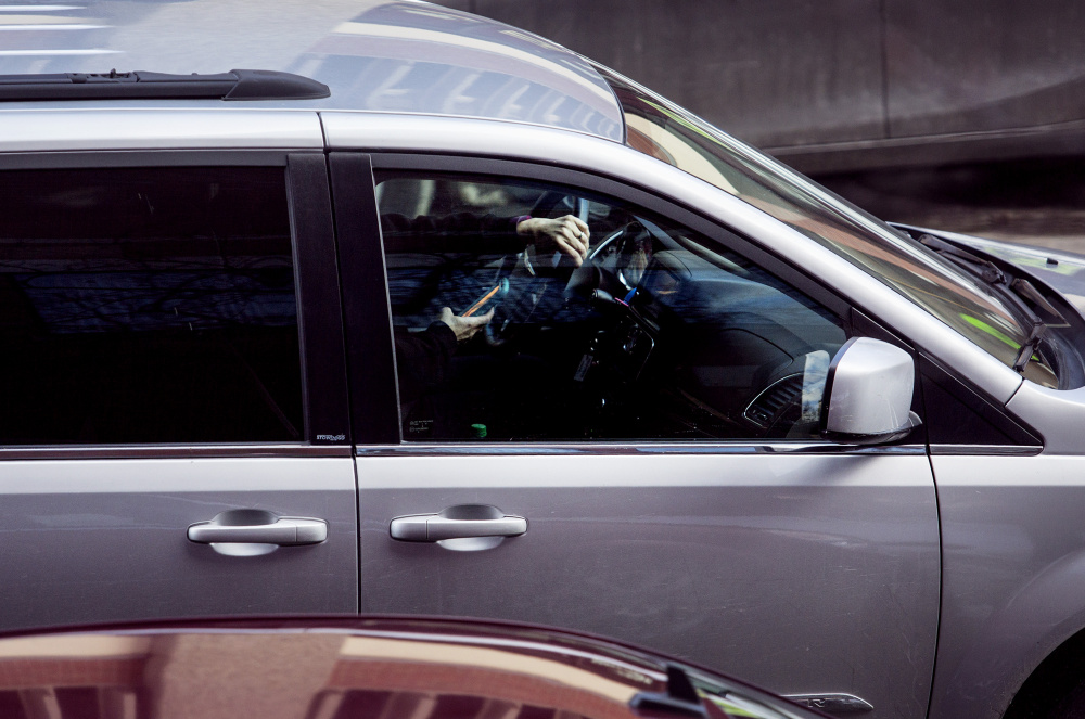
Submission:
[[[1080,0],[886,0],[893,137],[1085,118]]]

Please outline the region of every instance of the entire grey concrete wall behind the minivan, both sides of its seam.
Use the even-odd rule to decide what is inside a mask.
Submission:
[[[764,147],[1085,118],[1078,0],[439,1],[556,40]]]

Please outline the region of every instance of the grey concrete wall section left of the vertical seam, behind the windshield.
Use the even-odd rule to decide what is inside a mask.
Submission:
[[[550,38],[761,145],[884,134],[879,0],[441,4]]]

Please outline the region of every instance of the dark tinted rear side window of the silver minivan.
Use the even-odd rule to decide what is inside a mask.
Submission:
[[[0,187],[0,442],[302,438],[282,168]]]

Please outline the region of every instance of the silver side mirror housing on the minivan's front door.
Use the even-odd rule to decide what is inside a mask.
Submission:
[[[916,365],[908,352],[870,337],[844,343],[829,364],[821,436],[847,445],[903,439],[919,426],[911,411]]]

